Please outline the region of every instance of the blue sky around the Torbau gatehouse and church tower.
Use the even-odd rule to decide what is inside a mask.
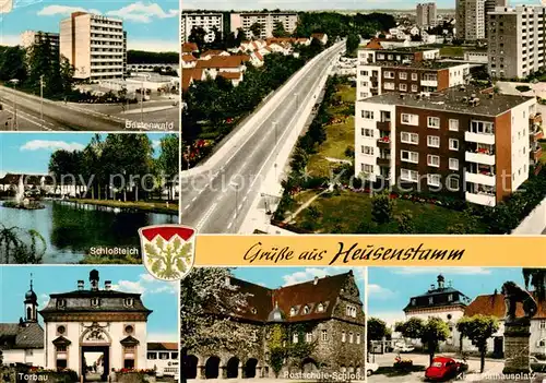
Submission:
[[[24,316],[24,296],[29,288],[31,273],[38,310],[45,308],[50,294],[78,289],[78,279],[90,288],[90,272],[99,273],[99,286],[111,280],[112,289],[142,294],[144,307],[152,310],[147,319],[147,342],[178,343],[178,283],[162,282],[144,266],[0,266],[0,322],[19,323]],[[41,316],[38,315],[40,324]]]

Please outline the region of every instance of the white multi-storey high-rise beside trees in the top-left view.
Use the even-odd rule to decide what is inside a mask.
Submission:
[[[74,77],[88,81],[119,79],[127,68],[123,22],[73,12],[60,24],[60,53],[74,67]]]

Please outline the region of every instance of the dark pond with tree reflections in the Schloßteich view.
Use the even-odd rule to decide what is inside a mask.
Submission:
[[[0,223],[10,228],[34,229],[46,240],[41,263],[79,263],[91,248],[135,247],[143,226],[178,224],[177,215],[119,210],[68,201],[40,201],[43,210],[2,207]],[[0,254],[0,263],[5,263]]]

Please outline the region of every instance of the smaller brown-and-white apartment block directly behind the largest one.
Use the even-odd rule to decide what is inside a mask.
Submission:
[[[377,61],[358,65],[357,99],[385,92],[422,93],[438,92],[465,84],[470,64],[434,60],[414,61],[405,64]]]

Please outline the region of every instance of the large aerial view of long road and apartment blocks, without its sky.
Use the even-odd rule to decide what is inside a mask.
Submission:
[[[545,70],[460,3],[182,8],[182,223],[545,234]]]

